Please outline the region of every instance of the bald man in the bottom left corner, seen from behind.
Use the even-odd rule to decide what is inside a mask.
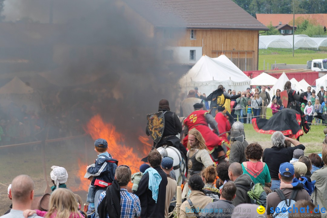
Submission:
[[[27,175],[19,175],[11,182],[9,197],[12,199],[12,209],[0,218],[24,218],[23,211],[30,210],[34,197],[34,182]],[[33,214],[29,218],[38,218]]]

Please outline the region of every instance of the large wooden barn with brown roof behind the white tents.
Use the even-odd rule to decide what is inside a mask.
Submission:
[[[232,0],[127,4],[153,25],[154,37],[168,41],[167,54],[181,64],[193,65],[202,55],[214,58],[224,53],[243,71],[258,69],[259,31],[268,28]]]

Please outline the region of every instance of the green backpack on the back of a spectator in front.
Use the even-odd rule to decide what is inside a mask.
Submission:
[[[261,183],[254,184],[251,182],[251,188],[248,189],[243,185],[236,184],[238,187],[242,187],[245,190],[248,190],[248,196],[250,197],[251,204],[262,205],[266,208],[267,206],[267,193],[264,190],[264,187]]]

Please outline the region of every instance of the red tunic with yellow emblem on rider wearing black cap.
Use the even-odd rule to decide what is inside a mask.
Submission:
[[[217,136],[208,126],[205,119],[207,110],[193,111],[185,120],[184,124],[188,129],[196,128],[203,136],[209,151],[212,151],[215,147],[220,146],[223,139]],[[188,135],[184,138],[183,145],[187,147]]]

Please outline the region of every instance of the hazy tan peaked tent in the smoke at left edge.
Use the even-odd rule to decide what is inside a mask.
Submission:
[[[31,94],[33,92],[34,89],[27,86],[17,76],[0,88],[0,94]]]

